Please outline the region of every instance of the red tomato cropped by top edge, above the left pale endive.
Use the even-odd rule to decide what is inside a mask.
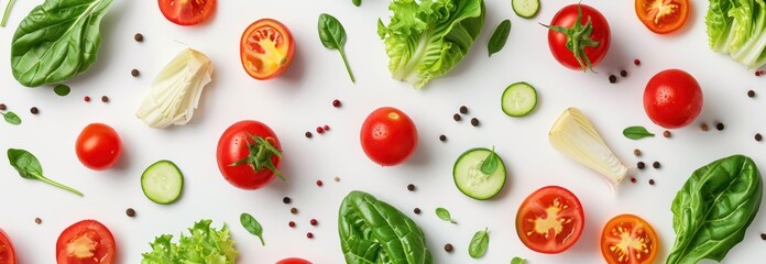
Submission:
[[[160,0],[165,19],[179,25],[199,24],[212,15],[216,0]]]

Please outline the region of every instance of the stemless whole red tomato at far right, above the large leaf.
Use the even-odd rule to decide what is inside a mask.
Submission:
[[[659,72],[646,84],[644,110],[654,123],[666,129],[690,124],[702,110],[700,84],[680,69]]]

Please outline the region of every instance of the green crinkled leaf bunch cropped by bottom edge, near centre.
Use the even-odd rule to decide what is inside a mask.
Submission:
[[[340,205],[340,248],[346,263],[431,264],[423,230],[370,194],[354,190]]]

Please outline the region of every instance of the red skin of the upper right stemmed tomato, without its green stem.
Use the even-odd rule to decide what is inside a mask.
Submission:
[[[590,16],[591,23],[593,24],[593,32],[591,34],[591,40],[599,42],[595,47],[587,46],[584,47],[586,56],[590,59],[591,66],[598,65],[606,52],[609,52],[609,46],[612,41],[612,33],[609,28],[609,23],[601,12],[591,8],[590,6],[579,4],[582,8],[582,19],[581,24],[588,23],[588,18]],[[559,10],[554,19],[550,21],[550,25],[571,28],[577,21],[578,4],[569,4]],[[561,65],[570,69],[582,70],[580,63],[577,62],[574,55],[569,48],[567,48],[567,35],[548,30],[548,47],[550,53],[554,55],[556,61]]]

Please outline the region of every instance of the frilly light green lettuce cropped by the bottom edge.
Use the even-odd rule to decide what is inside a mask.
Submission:
[[[210,228],[208,219],[195,222],[189,228],[189,235],[180,234],[178,243],[173,243],[172,234],[156,237],[152,251],[141,254],[141,264],[165,263],[216,263],[233,264],[239,252],[234,249],[229,228],[223,223],[220,230]]]

